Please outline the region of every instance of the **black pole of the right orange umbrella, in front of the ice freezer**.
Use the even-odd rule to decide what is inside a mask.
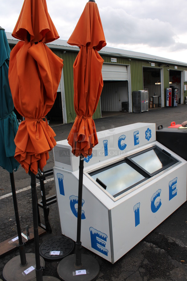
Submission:
[[[82,182],[84,170],[84,157],[80,155],[79,178],[78,178],[78,213],[77,213],[77,241],[75,243],[76,261],[75,266],[80,267],[81,262],[81,215],[82,215]]]

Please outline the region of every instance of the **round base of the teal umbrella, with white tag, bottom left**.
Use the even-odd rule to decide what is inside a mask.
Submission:
[[[36,266],[36,258],[34,253],[26,254],[27,265],[20,266],[20,256],[16,256],[6,263],[3,268],[2,275],[5,281],[30,281],[36,277],[35,269],[30,271],[30,267]],[[40,257],[40,265],[41,267],[45,266],[45,261],[42,257]],[[25,274],[24,271],[29,270],[28,274]]]

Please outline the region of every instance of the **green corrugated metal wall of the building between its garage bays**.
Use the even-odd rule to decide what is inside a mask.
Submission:
[[[63,53],[63,50],[53,50],[53,52],[61,57],[64,60],[64,67],[63,67],[63,75],[64,75],[64,90],[65,90],[65,98],[66,98],[66,111],[67,111],[67,123],[74,122],[76,114],[74,112],[74,103],[73,103],[73,64],[74,60],[78,54],[78,52],[74,51],[66,51]],[[111,56],[101,54],[101,57],[104,59],[104,62],[111,63]],[[116,56],[112,56],[116,57]],[[133,91],[142,90],[143,86],[143,67],[150,67],[151,63],[147,60],[138,60],[138,59],[128,59],[123,57],[116,57],[117,64],[124,64],[130,65],[131,68],[131,88]],[[114,63],[114,62],[113,62]],[[112,63],[112,64],[113,64]],[[167,69],[175,69],[175,65],[163,64],[159,67],[159,63],[155,63],[153,68],[163,68],[164,73],[164,100],[166,100],[166,88],[169,87],[169,71]],[[186,67],[177,66],[177,70],[187,70]],[[152,90],[152,89],[151,89]],[[115,89],[114,89],[115,91]],[[155,92],[155,91],[154,91]],[[113,97],[114,98],[114,97]],[[101,117],[101,107],[100,102],[98,103],[97,110],[94,113],[93,118],[100,118]]]

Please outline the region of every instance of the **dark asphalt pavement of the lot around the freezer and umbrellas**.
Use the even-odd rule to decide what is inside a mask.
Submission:
[[[137,122],[155,123],[158,126],[170,126],[171,122],[181,124],[187,120],[187,105],[178,107],[165,107],[149,109],[141,113],[113,113],[112,116],[104,115],[96,119],[96,130],[103,131]],[[67,139],[71,130],[71,124],[50,122],[49,124],[56,134],[56,141]],[[52,169],[54,159],[52,151],[44,170]],[[17,235],[17,227],[11,194],[10,175],[0,167],[0,243]],[[46,197],[55,194],[53,176],[45,181]],[[22,167],[14,173],[14,181],[17,190],[17,204],[19,210],[21,231],[25,226],[32,228],[32,199],[30,188],[30,176]],[[40,185],[37,180],[37,195],[40,199]],[[49,223],[52,233],[46,232],[40,236],[40,245],[53,237],[62,236],[59,220],[58,205],[49,206]],[[41,221],[44,220],[43,211],[40,209]],[[120,223],[120,222],[119,222]],[[25,245],[26,253],[34,253],[34,242]],[[96,280],[104,281],[184,281],[187,280],[187,202],[178,208],[170,217],[162,222],[142,241],[121,257],[116,263],[111,264],[100,256],[82,247],[82,253],[94,257],[99,263],[100,272]],[[73,251],[75,253],[75,250]],[[19,255],[18,249],[0,258],[0,279],[3,279],[4,266],[15,256]],[[45,260],[43,276],[59,278],[57,267],[59,261]],[[10,269],[11,270],[11,269]],[[16,280],[12,276],[9,281]],[[72,278],[72,280],[74,280]]]

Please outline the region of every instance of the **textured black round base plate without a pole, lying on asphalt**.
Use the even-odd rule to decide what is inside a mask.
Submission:
[[[74,241],[66,236],[55,236],[40,246],[40,256],[45,260],[62,260],[70,255],[74,249]],[[51,255],[52,251],[60,251],[59,255]]]

